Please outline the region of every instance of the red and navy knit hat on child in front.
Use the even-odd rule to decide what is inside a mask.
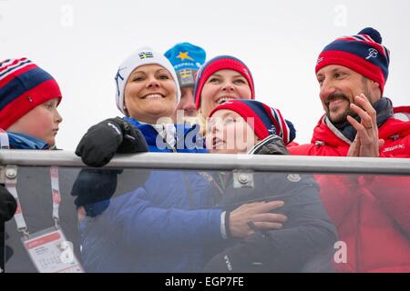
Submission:
[[[278,109],[255,100],[236,99],[229,100],[210,112],[210,116],[221,109],[228,109],[241,115],[252,126],[255,135],[261,140],[269,135],[279,135],[285,145],[290,144],[296,137],[296,130],[292,122],[283,118]],[[248,120],[253,118],[253,124]]]

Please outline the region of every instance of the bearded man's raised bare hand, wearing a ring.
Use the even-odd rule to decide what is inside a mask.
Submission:
[[[354,126],[357,135],[353,144],[349,147],[347,156],[378,157],[379,149],[384,145],[384,140],[379,139],[379,128],[377,127],[376,111],[364,94],[354,97],[350,108],[360,116],[361,123],[352,116],[347,116],[347,121]]]

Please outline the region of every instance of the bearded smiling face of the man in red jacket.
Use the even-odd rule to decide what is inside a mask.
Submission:
[[[342,123],[347,115],[354,116],[350,104],[362,93],[374,103],[373,81],[342,65],[327,65],[316,74],[320,85],[323,109],[333,124]]]

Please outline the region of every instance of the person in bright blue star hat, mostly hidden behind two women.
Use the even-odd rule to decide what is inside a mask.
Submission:
[[[174,66],[178,76],[181,97],[177,110],[183,110],[184,117],[195,117],[198,113],[195,107],[193,88],[195,75],[206,59],[205,51],[197,45],[180,43],[169,48],[164,55]]]

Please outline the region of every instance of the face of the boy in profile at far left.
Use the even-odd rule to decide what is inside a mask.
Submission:
[[[11,125],[7,130],[23,135],[30,135],[44,140],[48,146],[55,146],[58,125],[63,121],[63,118],[56,110],[57,105],[58,98],[38,105],[18,119],[15,124]]]

